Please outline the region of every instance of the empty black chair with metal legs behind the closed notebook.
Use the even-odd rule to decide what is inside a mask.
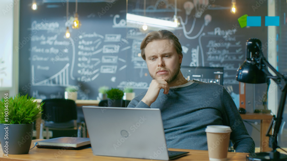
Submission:
[[[46,139],[50,130],[77,130],[77,137],[86,137],[85,123],[77,123],[77,106],[75,101],[66,99],[47,99],[42,101],[42,121],[40,124],[40,139],[43,139],[43,129]]]

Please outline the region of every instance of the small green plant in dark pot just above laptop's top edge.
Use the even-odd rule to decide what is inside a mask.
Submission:
[[[122,107],[124,92],[117,88],[107,91],[108,107]]]

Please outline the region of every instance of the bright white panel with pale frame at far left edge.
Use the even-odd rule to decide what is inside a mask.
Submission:
[[[18,94],[19,82],[19,52],[15,50],[19,41],[19,5],[20,0],[1,0],[0,1],[0,98],[4,93],[9,96]],[[5,67],[5,69],[3,68]]]

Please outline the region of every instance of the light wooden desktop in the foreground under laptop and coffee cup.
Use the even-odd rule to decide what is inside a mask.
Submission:
[[[40,139],[38,139],[39,141]],[[42,140],[42,139],[41,139]],[[31,148],[34,146],[33,142],[37,140],[32,140]],[[71,160],[99,160],[99,161],[147,161],[147,159],[135,159],[135,158],[119,158],[119,157],[108,157],[108,156],[94,156],[91,148],[83,150],[65,150],[65,149],[44,149],[44,148],[33,148],[30,149],[29,154],[20,154],[12,155],[8,154],[9,157],[4,156],[2,148],[0,146],[0,158],[1,160],[42,160],[42,161],[51,161],[51,160],[61,160],[61,161],[71,161]],[[169,149],[173,151],[185,151],[189,152],[187,156],[183,156],[176,160],[178,161],[187,161],[187,160],[200,160],[200,161],[209,161],[208,151],[205,150],[187,150],[187,149]],[[235,153],[228,152],[227,158],[232,161],[245,161],[247,153]]]

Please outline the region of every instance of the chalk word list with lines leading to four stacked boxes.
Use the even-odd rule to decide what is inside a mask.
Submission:
[[[92,39],[96,39],[95,41]],[[122,38],[121,34],[105,34],[84,33],[79,36],[77,74],[80,75],[76,79],[81,82],[91,82],[100,74],[112,73],[121,71],[127,67],[126,60],[119,57],[119,53],[130,48],[124,46],[129,42]],[[74,43],[72,42],[72,45]],[[100,45],[101,48],[100,48]],[[124,46],[123,48],[121,48]],[[73,52],[75,52],[73,50]],[[95,56],[101,53],[102,56]],[[122,62],[122,63],[119,63]],[[118,67],[119,64],[122,66]],[[72,67],[73,69],[73,67]],[[73,72],[71,71],[71,77]],[[110,81],[114,81],[111,79]]]

